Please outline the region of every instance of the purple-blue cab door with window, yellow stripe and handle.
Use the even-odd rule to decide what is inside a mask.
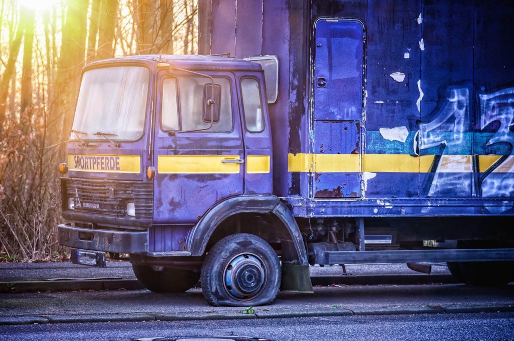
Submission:
[[[158,76],[154,224],[194,224],[216,203],[244,192],[234,77],[208,74],[215,91],[208,77],[180,71]],[[218,107],[211,125],[205,111],[212,95]]]

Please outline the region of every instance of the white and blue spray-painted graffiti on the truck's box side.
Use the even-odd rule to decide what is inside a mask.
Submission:
[[[429,122],[419,125],[415,153],[435,154],[425,190],[420,195],[510,197],[514,194],[514,157],[510,156],[514,146],[514,88],[479,95],[476,122],[480,131],[476,133],[472,132],[469,97],[468,87],[449,88],[446,103],[431,113]],[[487,133],[487,129],[494,133]],[[485,145],[479,146],[484,136],[487,138]],[[494,149],[491,154],[497,156],[476,155],[476,150],[497,144],[503,144],[505,155],[494,153]],[[429,152],[431,148],[436,151]]]

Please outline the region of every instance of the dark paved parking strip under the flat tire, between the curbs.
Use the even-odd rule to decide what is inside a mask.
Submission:
[[[200,289],[0,294],[0,325],[514,311],[514,286],[341,286],[280,292],[270,306],[209,306]]]

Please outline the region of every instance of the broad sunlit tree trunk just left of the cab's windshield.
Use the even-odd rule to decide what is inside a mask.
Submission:
[[[84,65],[86,43],[86,18],[89,0],[68,0],[66,21],[62,30],[62,45],[57,63],[54,101],[50,115],[49,131],[56,141],[68,136],[72,110]]]

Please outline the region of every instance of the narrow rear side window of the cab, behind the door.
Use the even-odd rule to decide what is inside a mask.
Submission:
[[[254,133],[263,131],[264,117],[262,112],[261,92],[257,79],[243,78],[241,81],[241,94],[243,97],[246,129]]]

